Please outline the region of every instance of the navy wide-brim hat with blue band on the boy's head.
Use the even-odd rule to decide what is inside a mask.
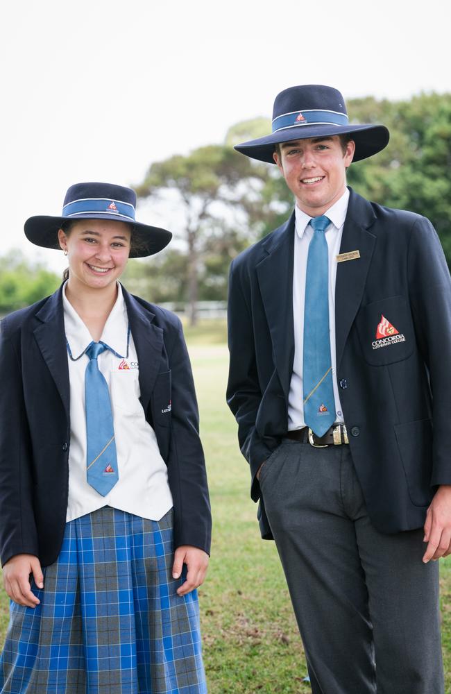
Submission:
[[[346,133],[355,142],[355,162],[380,152],[390,137],[385,126],[350,123],[343,96],[333,87],[300,85],[289,87],[275,97],[271,135],[237,144],[235,149],[252,159],[272,164],[275,144]]]

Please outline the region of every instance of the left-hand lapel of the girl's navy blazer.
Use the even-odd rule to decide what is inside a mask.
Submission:
[[[64,314],[62,311],[62,286],[49,297],[36,318],[40,325],[34,330],[37,346],[40,348],[44,362],[55,381],[67,421],[70,414],[69,366],[67,365],[67,347],[65,337]]]

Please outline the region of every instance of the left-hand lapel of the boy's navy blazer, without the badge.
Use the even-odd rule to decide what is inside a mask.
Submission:
[[[266,256],[256,266],[275,366],[288,398],[294,358],[293,252],[294,212],[264,244]]]

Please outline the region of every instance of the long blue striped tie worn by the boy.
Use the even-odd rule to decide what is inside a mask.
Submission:
[[[329,253],[323,214],[310,220],[314,235],[309,244],[304,310],[304,421],[323,436],[335,421],[329,335]]]

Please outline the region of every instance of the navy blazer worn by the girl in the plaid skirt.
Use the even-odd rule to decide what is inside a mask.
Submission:
[[[198,409],[179,319],[124,289],[146,420],[173,496],[174,545],[210,552],[211,516]],[[69,369],[62,287],[10,314],[0,333],[0,552],[56,560],[69,484]],[[169,404],[171,403],[171,407]]]

